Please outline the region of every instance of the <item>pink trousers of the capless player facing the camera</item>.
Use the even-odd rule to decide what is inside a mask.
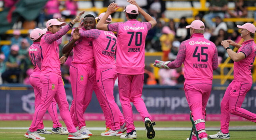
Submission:
[[[86,126],[83,115],[91,101],[93,90],[97,99],[100,98],[100,91],[96,82],[96,72],[94,68],[84,64],[72,64],[70,67],[70,77],[73,94],[70,114],[75,127],[79,126],[79,129],[81,129],[81,127]],[[108,108],[103,102],[99,101],[99,103],[106,119],[106,126],[110,126],[111,120],[108,116]]]

